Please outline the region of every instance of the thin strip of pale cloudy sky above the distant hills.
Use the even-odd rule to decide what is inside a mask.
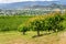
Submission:
[[[0,0],[0,3],[11,3],[11,2],[21,2],[21,1],[61,1],[61,2],[66,2],[65,0]]]

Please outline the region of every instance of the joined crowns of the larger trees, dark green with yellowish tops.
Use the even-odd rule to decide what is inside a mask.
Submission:
[[[38,15],[35,18],[32,18],[32,21],[30,21],[30,28],[33,31],[62,31],[64,30],[63,25],[59,24],[64,20],[63,15],[61,13],[53,13],[48,15]],[[38,33],[40,34],[40,33]]]

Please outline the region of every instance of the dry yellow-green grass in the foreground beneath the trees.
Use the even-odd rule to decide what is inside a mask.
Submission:
[[[0,32],[0,44],[58,44],[61,33],[45,34],[40,37],[33,37],[36,32],[28,32],[22,35],[20,32]]]

